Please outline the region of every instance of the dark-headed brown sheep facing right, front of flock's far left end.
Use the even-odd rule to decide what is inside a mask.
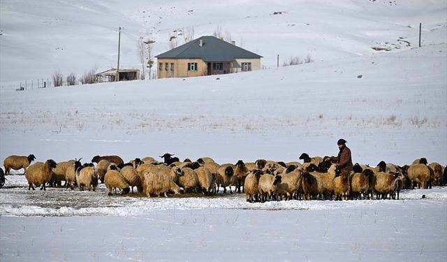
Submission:
[[[28,172],[25,174],[25,177],[27,177],[28,181],[28,190],[31,188],[33,190],[33,184],[38,187],[42,185],[41,190],[46,190],[45,184],[47,182],[50,182],[51,180],[51,171],[53,168],[56,168],[56,162],[52,159],[48,159],[45,161],[45,163],[42,162],[36,162],[29,166]]]

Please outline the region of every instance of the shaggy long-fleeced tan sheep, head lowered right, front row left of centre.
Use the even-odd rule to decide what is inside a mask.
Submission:
[[[174,194],[179,194],[179,187],[169,175],[166,174],[156,174],[152,172],[148,172],[144,174],[145,176],[145,184],[144,189],[146,196],[150,198],[151,194],[156,196],[160,196],[163,194],[167,197],[168,191],[174,191]]]

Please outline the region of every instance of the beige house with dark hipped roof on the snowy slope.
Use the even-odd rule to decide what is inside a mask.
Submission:
[[[187,78],[261,69],[261,55],[214,36],[202,36],[156,58],[158,78]]]

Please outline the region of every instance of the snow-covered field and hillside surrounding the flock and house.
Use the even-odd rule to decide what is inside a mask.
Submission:
[[[297,161],[302,152],[335,155],[344,138],[353,162],[426,157],[446,166],[446,14],[447,1],[419,0],[1,0],[0,160],[170,152],[218,163]],[[115,67],[119,26],[125,67],[140,68],[143,33],[160,54],[177,29],[193,27],[197,38],[220,26],[263,55],[264,69],[15,91],[57,70]],[[307,54],[313,61],[277,68],[277,54],[280,64]],[[447,257],[446,187],[402,191],[399,201],[247,203],[242,194],[109,197],[103,185],[28,191],[20,173],[0,189],[0,261]]]

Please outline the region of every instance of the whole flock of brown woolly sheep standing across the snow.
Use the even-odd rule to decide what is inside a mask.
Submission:
[[[292,161],[267,161],[258,159],[253,163],[242,160],[237,163],[216,163],[210,157],[197,161],[185,159],[179,161],[173,154],[161,156],[164,161],[153,157],[134,159],[124,163],[118,156],[96,156],[91,163],[81,159],[56,163],[52,159],[32,163],[36,157],[7,157],[3,166],[6,175],[10,170],[24,169],[29,187],[47,185],[65,187],[73,190],[87,188],[95,191],[98,182],[104,183],[108,195],[133,193],[133,188],[144,191],[146,196],[167,196],[167,194],[198,193],[217,194],[220,187],[223,194],[227,188],[233,194],[232,187],[238,193],[242,191],[247,201],[271,200],[312,200],[312,199],[373,199],[397,198],[401,189],[414,189],[415,186],[428,188],[444,186],[447,183],[447,168],[439,163],[427,163],[421,158],[411,165],[397,166],[381,161],[378,166],[370,167],[356,163],[353,171],[339,170],[330,161],[321,157],[309,157],[303,153],[300,159],[304,163]],[[96,163],[96,165],[94,164]],[[0,168],[1,186],[4,184],[3,170]],[[118,190],[117,190],[118,189]]]

